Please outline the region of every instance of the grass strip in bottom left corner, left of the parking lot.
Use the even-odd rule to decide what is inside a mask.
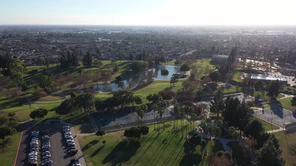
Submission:
[[[8,146],[5,151],[0,151],[1,165],[14,165],[17,156],[17,150],[20,143],[21,132],[17,132],[11,136],[12,145]]]

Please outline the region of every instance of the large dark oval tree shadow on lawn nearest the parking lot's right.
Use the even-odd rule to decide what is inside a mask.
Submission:
[[[110,162],[111,165],[117,165],[120,162],[128,161],[139,147],[138,141],[123,140],[103,159],[103,163]]]

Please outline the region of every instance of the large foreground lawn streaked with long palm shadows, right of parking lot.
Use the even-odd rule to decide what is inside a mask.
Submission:
[[[196,152],[187,153],[188,144],[181,138],[182,131],[172,132],[173,123],[170,124],[160,135],[151,125],[149,134],[138,141],[126,139],[123,130],[78,139],[88,165],[209,165],[210,155],[202,157],[200,146]],[[103,140],[107,141],[104,147]],[[209,154],[211,145],[213,152],[223,149],[219,142],[212,140],[206,147]]]

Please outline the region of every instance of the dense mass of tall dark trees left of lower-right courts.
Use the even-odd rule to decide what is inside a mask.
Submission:
[[[234,138],[239,138],[243,132],[244,136],[256,139],[257,145],[260,147],[255,154],[255,165],[284,165],[284,159],[280,156],[281,150],[278,140],[273,134],[265,132],[259,120],[252,118],[249,109],[251,103],[244,100],[239,101],[237,97],[228,96],[225,100],[222,97],[221,91],[218,90],[214,100],[211,101],[210,110],[211,112],[221,112],[223,123],[219,124],[219,120],[216,120],[217,128],[214,130],[212,130],[212,127],[210,127],[212,129],[203,127],[205,133],[219,135],[224,127],[228,127],[228,133]],[[236,130],[239,130],[239,132]],[[248,153],[244,155],[249,156]]]

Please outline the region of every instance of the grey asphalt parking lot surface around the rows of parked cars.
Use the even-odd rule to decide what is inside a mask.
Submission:
[[[28,154],[30,152],[30,141],[31,141],[31,132],[32,129],[39,129],[42,131],[43,129],[49,129],[50,130],[50,152],[51,152],[51,160],[53,161],[53,166],[60,166],[60,165],[71,165],[70,164],[70,159],[76,159],[80,158],[79,161],[81,160],[81,165],[85,165],[84,158],[82,157],[82,152],[78,143],[78,139],[75,136],[75,131],[74,128],[71,127],[71,131],[74,142],[75,142],[75,147],[78,149],[77,154],[67,154],[67,146],[66,142],[63,138],[63,130],[62,130],[62,125],[59,123],[39,123],[39,124],[33,124],[33,123],[24,123],[21,126],[24,131],[22,134],[22,138],[20,141],[20,147],[18,151],[18,156],[16,159],[16,165],[27,165],[28,163]],[[42,132],[40,132],[42,133]],[[42,135],[42,134],[41,134]],[[41,139],[40,139],[41,140]],[[40,157],[40,154],[42,153],[42,150],[39,152],[38,158],[39,161],[41,160],[42,162],[42,157]],[[39,165],[39,163],[38,163]]]

